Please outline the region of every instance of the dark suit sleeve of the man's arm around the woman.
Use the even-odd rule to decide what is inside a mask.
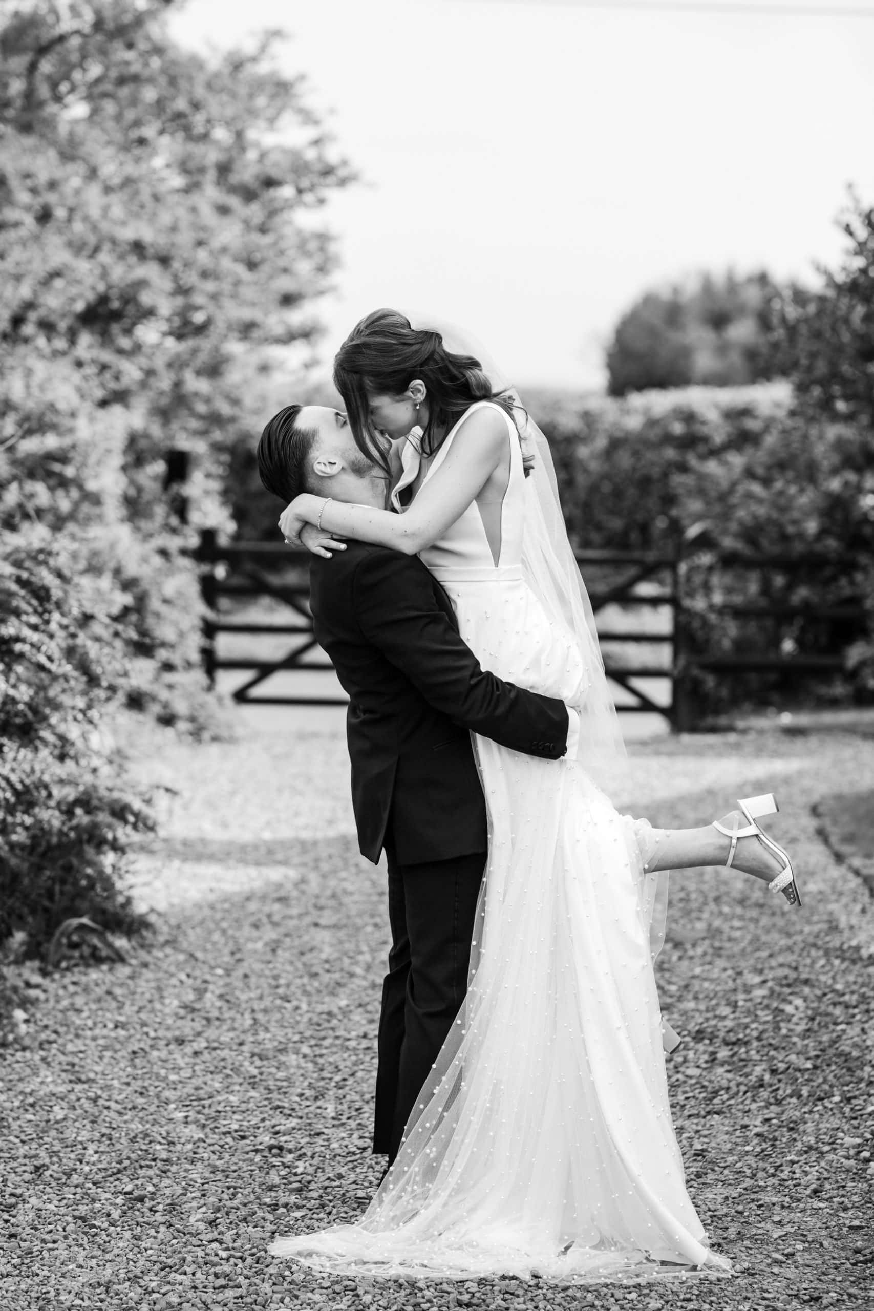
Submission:
[[[422,562],[368,553],[355,570],[355,616],[370,642],[453,722],[527,755],[558,759],[567,746],[563,701],[527,692],[481,669],[440,610]]]

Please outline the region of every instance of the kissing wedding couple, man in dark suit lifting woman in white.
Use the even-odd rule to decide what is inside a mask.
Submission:
[[[548,446],[482,354],[376,311],[335,358],[346,412],[290,405],[258,446],[312,552],[392,932],[387,1172],[358,1223],[273,1251],[389,1277],[727,1273],[685,1190],[653,961],[671,868],[799,903],[757,825],[776,804],[668,831],[599,787],[622,745]]]

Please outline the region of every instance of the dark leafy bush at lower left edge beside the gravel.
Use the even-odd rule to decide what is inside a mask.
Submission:
[[[43,954],[79,915],[140,932],[119,874],[152,821],[101,732],[127,679],[111,621],[51,544],[0,562],[0,944]]]

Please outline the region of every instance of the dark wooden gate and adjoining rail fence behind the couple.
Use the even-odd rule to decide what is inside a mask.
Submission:
[[[308,564],[305,551],[265,541],[220,545],[212,531],[202,534],[198,558],[202,566],[207,619],[203,629],[203,665],[215,683],[221,670],[248,675],[231,695],[236,701],[257,705],[342,705],[342,694],[271,696],[263,684],[280,673],[308,674],[330,670],[313,635],[309,614]],[[846,597],[823,604],[810,599],[823,594],[826,577],[849,578],[858,561],[836,560],[828,555],[755,556],[704,549],[694,535],[676,555],[625,551],[583,551],[577,556],[588,586],[604,653],[604,667],[612,683],[629,700],[617,705],[622,713],[642,712],[664,716],[675,729],[691,729],[698,720],[696,686],[702,675],[738,678],[746,674],[828,675],[844,667],[843,648],[864,631],[864,607],[852,587]],[[710,621],[725,619],[738,637],[713,642],[701,649],[696,614],[687,597],[697,597],[700,582],[689,587],[689,570],[705,568],[713,579],[706,595]],[[757,572],[753,583],[744,583]],[[816,585],[816,577],[820,583]],[[734,582],[732,582],[734,579]],[[710,586],[710,585],[708,585]],[[840,591],[840,585],[836,585]],[[246,615],[254,600],[273,602],[279,619]],[[646,611],[662,611],[658,627],[643,620]],[[667,623],[662,620],[666,617]],[[700,608],[697,623],[700,627]],[[824,644],[793,645],[791,631],[814,624],[832,625]],[[746,625],[746,627],[744,627]],[[835,625],[839,625],[837,629]],[[844,625],[841,632],[840,625]],[[718,632],[712,627],[712,633]],[[752,632],[752,642],[750,640]],[[837,636],[835,636],[837,633]],[[282,656],[259,658],[254,653],[221,652],[223,636],[244,635],[288,638]],[[639,686],[641,679],[664,679],[671,695],[656,701]],[[256,690],[261,692],[253,696]]]

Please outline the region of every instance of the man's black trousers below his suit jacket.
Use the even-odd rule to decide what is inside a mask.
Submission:
[[[468,987],[486,852],[398,865],[389,848],[392,949],[383,983],[373,1151],[394,1160],[404,1126]]]

